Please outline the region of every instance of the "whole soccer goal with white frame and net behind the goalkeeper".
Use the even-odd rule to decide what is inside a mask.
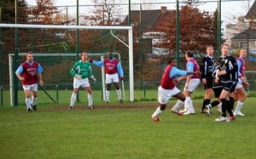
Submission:
[[[9,50],[9,47],[16,48],[15,53],[7,53],[9,54],[11,105],[15,103],[17,83],[20,85],[20,82],[15,82],[15,70],[26,60],[25,54],[29,51],[34,54],[34,60],[43,66],[44,89],[49,96],[54,96],[55,100],[67,100],[65,103],[69,101],[70,97],[61,97],[61,91],[56,92],[56,90],[73,90],[73,77],[70,70],[73,64],[80,60],[81,52],[89,53],[92,60],[103,60],[107,57],[108,52],[113,52],[113,56],[120,61],[124,69],[125,84],[119,83],[122,95],[129,94],[129,100],[134,100],[131,26],[0,24],[0,28],[3,52],[5,49]],[[9,38],[7,38],[8,36]],[[92,69],[97,82],[90,81],[91,87],[93,91],[102,92],[99,96],[94,95],[94,99],[105,99],[104,69],[96,65],[92,65]],[[113,85],[111,89],[115,90]]]

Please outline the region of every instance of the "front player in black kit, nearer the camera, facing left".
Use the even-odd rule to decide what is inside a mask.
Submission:
[[[218,70],[218,77],[221,79],[220,82],[223,84],[222,92],[219,96],[222,103],[222,113],[216,122],[230,122],[236,119],[233,112],[231,111],[231,105],[228,101],[229,95],[235,91],[236,83],[238,82],[238,66],[236,59],[229,54],[230,45],[223,43],[221,45],[221,57],[218,60],[220,70]],[[219,79],[217,78],[216,81]],[[227,118],[226,111],[230,114]]]

